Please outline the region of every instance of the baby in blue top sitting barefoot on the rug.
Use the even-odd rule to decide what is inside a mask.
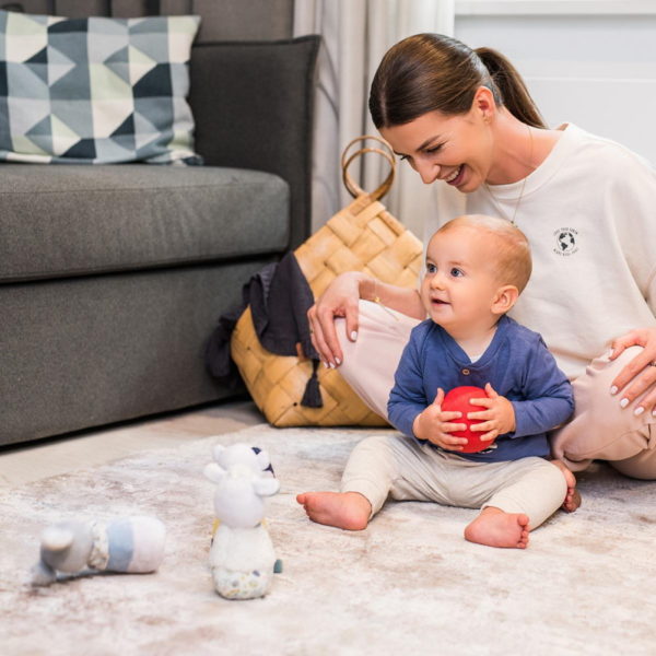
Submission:
[[[541,337],[506,316],[531,272],[525,235],[501,219],[465,215],[431,238],[421,285],[429,318],[399,362],[388,415],[402,435],[353,449],[341,492],[296,500],[320,524],[360,530],[386,499],[481,508],[465,538],[524,549],[529,531],[561,505],[575,509],[575,479],[551,462],[547,432],[573,412],[572,389]],[[468,413],[490,446],[461,453],[466,426],[442,410],[445,391],[484,387]]]

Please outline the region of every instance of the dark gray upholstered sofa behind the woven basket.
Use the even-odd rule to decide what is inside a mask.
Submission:
[[[56,4],[60,15],[153,10]],[[243,393],[209,376],[207,339],[250,274],[308,234],[318,37],[247,40],[291,30],[290,1],[270,3],[282,22],[256,1],[161,4],[208,11],[189,98],[206,166],[0,164],[0,444]],[[214,40],[226,36],[219,5],[233,25],[242,11],[243,40]],[[266,34],[253,30],[258,7]]]

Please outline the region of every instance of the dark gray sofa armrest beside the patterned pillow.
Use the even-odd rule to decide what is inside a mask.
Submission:
[[[212,166],[274,173],[290,185],[290,248],[309,234],[316,35],[199,44],[189,103],[196,151]]]

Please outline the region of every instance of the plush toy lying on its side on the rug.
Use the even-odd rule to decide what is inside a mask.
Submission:
[[[166,529],[155,517],[119,517],[107,524],[63,522],[42,534],[32,585],[50,585],[57,573],[154,572],[164,557]]]

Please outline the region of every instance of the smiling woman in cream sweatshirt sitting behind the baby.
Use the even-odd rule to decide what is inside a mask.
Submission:
[[[574,471],[601,458],[656,479],[656,173],[573,125],[548,129],[502,55],[442,35],[385,55],[370,109],[425,184],[449,187],[426,234],[467,212],[528,236],[534,276],[511,314],[542,333],[576,400],[552,435],[554,456]],[[401,351],[424,318],[418,292],[345,273],[308,317],[326,366],[341,366],[386,415]]]

